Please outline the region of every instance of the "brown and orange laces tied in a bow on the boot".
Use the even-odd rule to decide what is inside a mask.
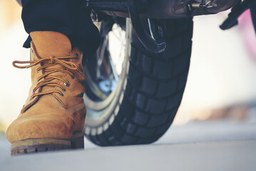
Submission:
[[[70,86],[70,83],[68,83],[66,79],[62,78],[62,76],[51,76],[51,74],[56,72],[67,73],[69,76],[71,76],[71,78],[74,78],[73,73],[71,73],[70,71],[66,71],[66,68],[72,71],[78,71],[78,73],[83,74],[83,71],[79,69],[78,64],[68,61],[71,58],[78,58],[78,56],[64,56],[64,57],[48,56],[46,58],[41,58],[35,61],[14,61],[12,65],[16,68],[31,68],[32,66],[36,66],[39,63],[41,63],[41,67],[36,68],[36,73],[39,73],[39,71],[42,70],[43,75],[37,78],[38,83],[33,90],[31,99],[39,95],[47,95],[52,93],[59,93],[60,95],[63,96],[63,93],[61,93],[60,90],[44,90],[39,93],[34,93],[34,92],[37,89],[42,88],[43,86],[57,86],[61,88],[61,90],[66,91],[66,89],[63,86],[61,86],[59,83],[53,82],[53,80],[62,81],[64,85],[67,87]],[[26,64],[26,63],[29,63],[29,65],[27,66],[17,65],[17,64]],[[50,66],[56,66],[57,64],[61,64],[63,68],[48,68]]]

